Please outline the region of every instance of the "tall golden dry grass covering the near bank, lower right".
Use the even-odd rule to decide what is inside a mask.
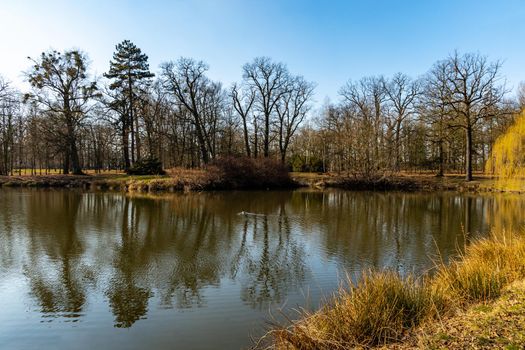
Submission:
[[[302,311],[290,326],[271,330],[262,343],[270,340],[269,347],[274,349],[417,348],[422,342],[450,347],[447,339],[455,339],[457,344],[466,340],[447,331],[447,324],[467,317],[472,308],[504,307],[508,304],[505,293],[509,293],[505,291],[510,288],[512,293],[514,284],[522,285],[523,279],[524,235],[495,232],[466,247],[452,263],[439,265],[432,276],[402,278],[388,271],[365,273],[356,284],[342,287],[320,310]],[[520,293],[514,293],[522,297],[516,299],[517,305],[512,304],[511,314],[525,307]],[[498,315],[506,317],[506,311],[498,311]],[[523,329],[525,325],[516,322],[525,321],[524,313],[518,313],[519,319],[509,314],[508,320],[501,322]],[[470,326],[475,328],[474,324],[465,325]],[[484,337],[476,332],[482,331],[474,330],[473,337]],[[441,338],[434,338],[438,333]],[[520,339],[510,339],[508,345],[518,342],[521,348],[525,341]]]

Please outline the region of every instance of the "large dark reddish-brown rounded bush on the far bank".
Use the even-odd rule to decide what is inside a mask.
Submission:
[[[212,167],[219,173],[221,185],[227,188],[265,189],[293,184],[286,167],[273,159],[226,157],[215,161]]]

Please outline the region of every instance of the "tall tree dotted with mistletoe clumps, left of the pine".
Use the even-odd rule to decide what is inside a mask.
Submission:
[[[87,116],[89,103],[98,96],[96,82],[89,79],[87,56],[77,50],[43,52],[39,59],[31,59],[33,66],[27,73],[33,100],[51,118],[63,142],[64,173],[82,174],[78,152],[78,130]]]

